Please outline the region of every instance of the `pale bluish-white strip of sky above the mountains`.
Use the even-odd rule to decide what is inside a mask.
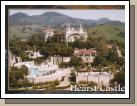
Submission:
[[[26,13],[30,16],[32,15],[40,15],[42,13],[45,12],[49,12],[49,11],[53,11],[53,12],[59,12],[61,14],[64,15],[68,15],[74,18],[81,18],[81,19],[94,19],[97,20],[99,18],[109,18],[111,20],[118,20],[118,21],[122,21],[125,22],[125,10],[121,10],[121,9],[116,9],[116,10],[45,10],[45,9],[12,9],[9,11],[9,14],[15,14],[18,12],[23,12]]]

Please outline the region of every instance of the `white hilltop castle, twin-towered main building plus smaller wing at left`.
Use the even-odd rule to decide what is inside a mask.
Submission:
[[[54,29],[51,27],[46,27],[43,29],[43,34],[43,39],[47,41],[48,37],[52,37],[54,35]],[[86,41],[87,37],[87,32],[84,31],[82,24],[77,27],[68,24],[64,30],[64,40],[66,43],[74,42],[76,39]]]

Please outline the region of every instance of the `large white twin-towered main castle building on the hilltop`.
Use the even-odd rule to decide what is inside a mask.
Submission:
[[[68,25],[65,31],[65,41],[66,42],[74,42],[76,39],[82,39],[86,41],[87,32],[84,31],[82,25],[79,28],[74,28]]]

